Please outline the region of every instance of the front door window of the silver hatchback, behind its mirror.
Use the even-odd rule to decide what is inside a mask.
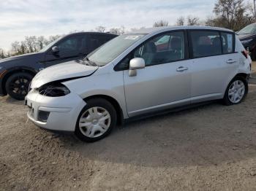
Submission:
[[[132,58],[143,58],[146,66],[184,59],[184,32],[171,32],[150,39],[138,47]]]

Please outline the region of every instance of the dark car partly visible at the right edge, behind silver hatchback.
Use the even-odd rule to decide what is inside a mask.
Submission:
[[[251,52],[252,60],[256,60],[256,23],[246,26],[236,33],[246,50]]]

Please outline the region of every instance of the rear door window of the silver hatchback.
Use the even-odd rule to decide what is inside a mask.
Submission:
[[[222,54],[219,32],[191,31],[193,58]]]

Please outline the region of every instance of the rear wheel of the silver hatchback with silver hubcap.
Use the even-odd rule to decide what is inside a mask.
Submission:
[[[225,91],[223,103],[226,106],[240,104],[248,93],[248,82],[244,77],[234,77]]]

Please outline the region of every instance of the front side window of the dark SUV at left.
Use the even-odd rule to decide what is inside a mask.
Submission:
[[[74,52],[80,50],[80,36],[71,36],[58,44],[59,52]]]

